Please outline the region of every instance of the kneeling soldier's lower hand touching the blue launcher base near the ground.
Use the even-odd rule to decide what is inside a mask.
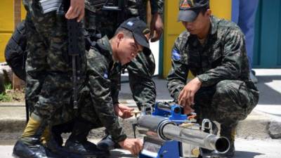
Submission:
[[[143,140],[138,138],[126,138],[122,142],[119,142],[119,145],[124,150],[129,150],[133,156],[137,156],[143,150]]]

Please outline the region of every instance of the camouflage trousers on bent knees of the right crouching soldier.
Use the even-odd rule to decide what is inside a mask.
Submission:
[[[223,80],[215,86],[200,88],[195,94],[195,112],[199,119],[218,121],[228,128],[235,126],[258,103],[259,92],[249,86],[244,81]]]

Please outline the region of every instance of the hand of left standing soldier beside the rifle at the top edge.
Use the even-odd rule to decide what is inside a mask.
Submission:
[[[85,3],[84,0],[71,0],[70,8],[65,14],[65,18],[74,19],[77,18],[77,22],[80,22],[84,18]]]

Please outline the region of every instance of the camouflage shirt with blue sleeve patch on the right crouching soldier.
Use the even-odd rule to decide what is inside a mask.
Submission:
[[[228,79],[244,81],[248,88],[256,89],[249,79],[244,34],[240,28],[214,16],[210,20],[211,27],[204,44],[187,31],[175,41],[172,69],[167,77],[169,92],[175,100],[187,82],[189,71],[200,79],[202,87]]]

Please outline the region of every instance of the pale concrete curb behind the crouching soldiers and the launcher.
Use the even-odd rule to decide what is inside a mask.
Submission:
[[[129,107],[136,107],[133,100],[120,100],[120,103],[128,105]],[[15,103],[0,103],[0,140],[17,139],[23,129],[25,128],[25,105]],[[133,138],[133,129],[131,124],[136,122],[134,117],[130,119],[119,119],[120,124],[124,127],[124,132]],[[281,122],[276,122],[270,117],[253,110],[247,119],[240,121],[237,126],[237,138],[252,138],[252,139],[266,139],[266,138],[281,138]],[[105,128],[93,129],[89,133],[89,138],[100,139],[103,138]],[[136,131],[136,136],[139,136]],[[65,136],[67,137],[67,136]]]

